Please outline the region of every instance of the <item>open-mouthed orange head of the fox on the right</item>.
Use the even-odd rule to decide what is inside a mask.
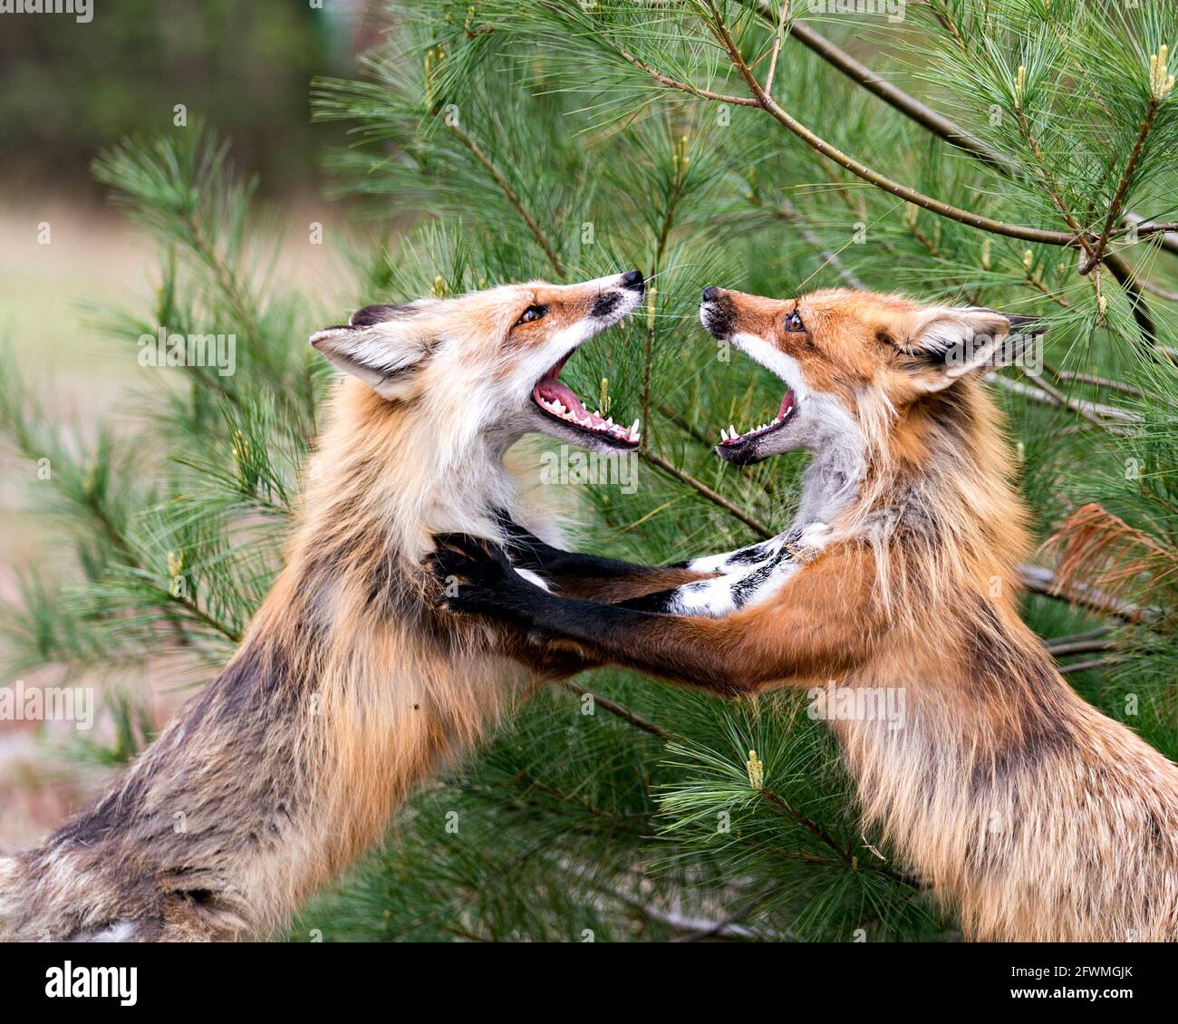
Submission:
[[[772,299],[707,288],[700,319],[786,384],[768,423],[722,431],[716,452],[748,464],[848,434],[885,448],[922,399],[1019,358],[1028,336],[1014,331],[1033,318],[848,289]]]

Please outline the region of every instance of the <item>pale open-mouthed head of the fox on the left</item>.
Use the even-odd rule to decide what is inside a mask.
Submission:
[[[383,398],[436,414],[436,429],[504,442],[535,430],[598,451],[627,450],[638,444],[638,423],[587,411],[560,372],[580,345],[634,312],[644,289],[642,273],[630,270],[580,284],[534,280],[365,306],[311,344]]]

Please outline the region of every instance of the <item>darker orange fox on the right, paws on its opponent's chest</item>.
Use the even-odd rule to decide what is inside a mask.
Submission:
[[[1026,513],[980,377],[1018,356],[1023,318],[708,288],[701,319],[786,384],[767,424],[724,429],[716,451],[814,452],[789,529],[618,605],[521,576],[561,568],[527,537],[441,537],[436,570],[462,581],[444,607],[726,695],[901,689],[900,728],[830,727],[866,819],[966,937],[1178,938],[1178,767],[1085,703],[1019,616]]]

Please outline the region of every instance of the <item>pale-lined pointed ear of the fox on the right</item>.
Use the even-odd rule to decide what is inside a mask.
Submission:
[[[1046,330],[1035,317],[984,306],[934,308],[918,315],[901,348],[921,388],[939,391],[973,371],[1021,362]]]

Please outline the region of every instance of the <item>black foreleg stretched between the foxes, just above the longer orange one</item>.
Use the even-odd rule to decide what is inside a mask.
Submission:
[[[540,573],[552,592],[562,597],[614,603],[696,580],[707,580],[714,575],[712,570],[694,569],[688,563],[641,566],[597,555],[563,551],[521,527],[505,511],[498,510],[496,517],[507,537],[511,564],[517,569]]]

